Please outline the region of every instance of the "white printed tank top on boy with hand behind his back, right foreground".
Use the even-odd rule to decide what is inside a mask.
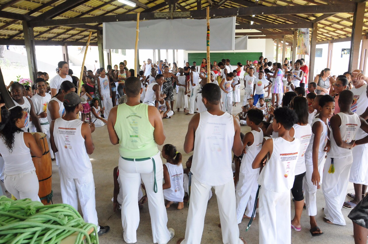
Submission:
[[[272,140],[272,154],[259,174],[258,184],[266,190],[282,193],[293,187],[300,141],[295,138],[290,142],[282,137]]]

